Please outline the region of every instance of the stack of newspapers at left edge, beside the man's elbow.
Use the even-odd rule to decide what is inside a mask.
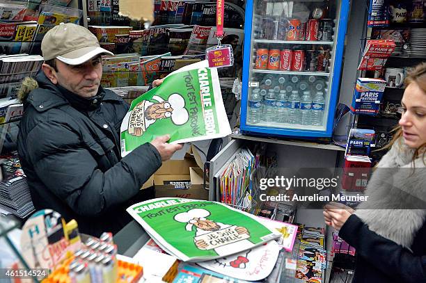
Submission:
[[[17,154],[1,159],[0,208],[26,218],[35,209]]]

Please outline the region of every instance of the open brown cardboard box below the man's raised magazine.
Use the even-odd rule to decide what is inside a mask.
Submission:
[[[155,197],[209,199],[209,191],[203,188],[203,170],[194,159],[164,162],[142,188],[149,186],[155,186]]]

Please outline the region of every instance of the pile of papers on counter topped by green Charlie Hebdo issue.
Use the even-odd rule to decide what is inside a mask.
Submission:
[[[219,202],[177,197],[140,202],[127,212],[151,237],[134,260],[146,267],[148,277],[160,278],[175,259],[186,261],[173,275],[176,283],[207,277],[280,282],[285,250],[292,250],[298,228]]]

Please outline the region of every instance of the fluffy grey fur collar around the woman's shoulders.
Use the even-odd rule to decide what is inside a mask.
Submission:
[[[413,152],[402,138],[397,140],[368,182],[368,202],[355,212],[370,230],[405,248],[411,247],[426,219],[426,165],[421,155],[413,162]]]

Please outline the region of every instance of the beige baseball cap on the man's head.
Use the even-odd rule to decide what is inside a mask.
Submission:
[[[80,65],[99,54],[113,55],[100,47],[88,29],[72,23],[61,23],[47,31],[41,49],[45,61],[56,58],[68,65]]]

